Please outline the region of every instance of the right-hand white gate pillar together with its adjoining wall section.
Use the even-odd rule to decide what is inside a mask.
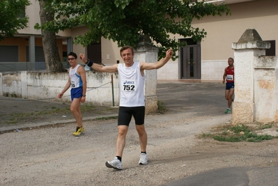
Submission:
[[[277,56],[265,56],[270,48],[255,29],[247,29],[235,49],[235,99],[232,123],[277,122]]]

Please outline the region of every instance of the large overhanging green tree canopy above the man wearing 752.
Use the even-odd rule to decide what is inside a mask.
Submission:
[[[87,26],[84,36],[77,36],[75,44],[91,45],[100,37],[118,42],[118,47],[135,47],[141,36],[149,36],[159,47],[159,58],[169,47],[177,51],[180,45],[171,34],[201,40],[206,31],[192,27],[192,20],[208,15],[229,14],[225,4],[191,0],[45,0],[56,13],[54,20],[38,29],[63,31],[76,26]],[[175,58],[175,57],[173,57]]]

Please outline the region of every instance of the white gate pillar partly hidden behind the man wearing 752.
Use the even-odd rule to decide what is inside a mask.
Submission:
[[[134,61],[145,61],[146,63],[157,62],[158,48],[150,43],[150,38],[144,36],[141,38],[137,47],[134,48]],[[145,70],[145,113],[157,111],[157,70]]]

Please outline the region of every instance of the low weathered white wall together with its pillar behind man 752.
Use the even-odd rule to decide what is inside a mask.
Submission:
[[[157,47],[150,45],[149,38],[148,40],[143,38],[134,49],[134,61],[155,63],[157,62],[157,53]],[[148,114],[157,111],[157,70],[145,70],[145,75],[145,113]],[[91,70],[86,71],[86,79],[86,102],[98,105],[119,105],[118,73],[103,73]],[[68,72],[21,71],[13,74],[0,73],[0,95],[34,100],[70,102],[70,88],[64,93],[63,98],[57,98],[67,81]],[[113,82],[113,90],[111,82]]]

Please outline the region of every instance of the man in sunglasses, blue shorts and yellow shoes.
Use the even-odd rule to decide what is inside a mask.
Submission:
[[[77,54],[74,52],[70,52],[68,54],[68,63],[70,63],[71,68],[68,69],[69,77],[68,82],[65,84],[63,91],[59,93],[58,98],[63,97],[63,93],[68,91],[70,86],[72,87],[70,90],[72,104],[70,104],[70,111],[73,116],[75,116],[75,121],[77,123],[77,127],[75,132],[72,134],[75,136],[79,136],[85,129],[82,124],[82,114],[80,109],[80,102],[85,102],[86,98],[86,71],[82,65],[77,64]]]

